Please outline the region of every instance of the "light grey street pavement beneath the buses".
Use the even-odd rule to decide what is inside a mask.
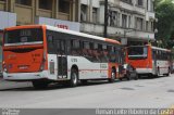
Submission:
[[[0,79],[0,107],[12,108],[169,108],[174,105],[174,75],[76,88],[52,85],[35,90],[30,82]]]

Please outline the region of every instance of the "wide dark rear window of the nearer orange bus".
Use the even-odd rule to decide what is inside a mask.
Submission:
[[[4,34],[5,44],[27,44],[27,43],[41,43],[44,41],[41,28],[27,28],[8,30]]]

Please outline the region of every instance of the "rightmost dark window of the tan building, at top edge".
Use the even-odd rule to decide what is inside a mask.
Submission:
[[[59,0],[59,12],[70,13],[70,0]]]

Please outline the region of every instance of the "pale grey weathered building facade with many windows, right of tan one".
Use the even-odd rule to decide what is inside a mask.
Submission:
[[[108,0],[108,37],[123,44],[154,41],[154,0]],[[105,0],[80,0],[80,31],[103,36]]]

